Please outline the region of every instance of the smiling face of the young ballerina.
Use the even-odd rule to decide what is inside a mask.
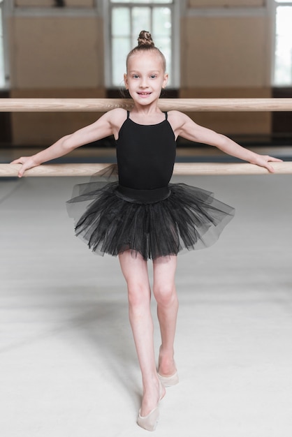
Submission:
[[[167,81],[162,59],[156,52],[135,53],[129,58],[124,82],[136,103],[149,105],[158,100]]]

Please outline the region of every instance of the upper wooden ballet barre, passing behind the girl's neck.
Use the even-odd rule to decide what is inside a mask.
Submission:
[[[107,112],[130,110],[129,98],[0,98],[0,112]],[[292,98],[161,98],[161,110],[292,111]]]

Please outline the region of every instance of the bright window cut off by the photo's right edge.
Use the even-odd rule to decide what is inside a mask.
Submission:
[[[292,1],[276,3],[276,40],[274,84],[292,86]]]

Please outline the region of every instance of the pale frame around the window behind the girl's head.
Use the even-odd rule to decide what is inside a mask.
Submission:
[[[168,70],[171,77],[171,88],[180,87],[180,1],[173,0],[172,3],[136,3],[135,0],[121,3],[112,3],[110,0],[103,0],[103,17],[104,17],[104,40],[105,40],[105,88],[119,89],[119,85],[112,84],[112,9],[119,7],[170,7],[172,13],[172,28],[171,28],[171,52],[172,52],[172,68]],[[142,30],[142,29],[141,29]],[[146,29],[147,30],[147,29]],[[137,35],[138,38],[138,35]],[[126,72],[126,59],[125,59]],[[121,77],[121,82],[123,78]]]

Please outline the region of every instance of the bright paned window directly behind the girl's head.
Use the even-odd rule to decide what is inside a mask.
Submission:
[[[110,1],[110,87],[123,84],[126,55],[137,45],[141,30],[152,34],[156,47],[166,57],[168,84],[174,84],[173,68],[173,0],[111,0]]]

